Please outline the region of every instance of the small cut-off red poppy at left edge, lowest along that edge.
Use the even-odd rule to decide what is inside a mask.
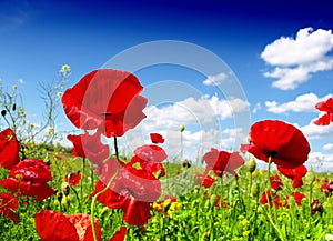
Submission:
[[[0,193],[0,214],[16,224],[20,222],[19,217],[13,212],[18,207],[18,199],[16,197],[10,193]]]

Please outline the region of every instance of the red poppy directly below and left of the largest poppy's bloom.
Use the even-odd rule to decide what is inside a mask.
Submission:
[[[90,162],[100,165],[110,153],[109,145],[101,142],[101,135],[97,132],[93,135],[89,133],[67,137],[73,143],[73,154],[81,158],[88,158]]]

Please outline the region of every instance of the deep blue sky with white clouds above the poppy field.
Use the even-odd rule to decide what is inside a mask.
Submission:
[[[168,134],[165,148],[171,155],[176,155],[179,144],[172,142],[178,141],[175,127],[183,122],[188,125],[184,154],[193,159],[203,137],[208,147],[216,145],[221,150],[232,147],[236,135],[245,137],[249,130],[235,127],[232,114],[242,114],[249,108],[251,123],[279,119],[297,125],[312,147],[309,163],[333,170],[333,128],[311,124],[319,117],[314,103],[333,94],[332,7],[333,2],[324,0],[283,0],[269,4],[268,1],[2,0],[0,79],[4,87],[19,87],[30,121],[39,123],[43,103],[38,99],[38,82],[58,78],[62,64],[68,63],[72,69],[68,88],[137,44],[158,40],[193,43],[228,64],[246,100],[235,100],[230,112],[225,97],[213,86],[203,84],[209,77],[176,66],[142,69],[135,74],[144,87],[153,89],[154,83],[167,80],[178,81],[180,88],[188,84],[189,89],[180,99],[173,97],[173,103],[159,103],[149,109],[151,118],[138,129],[139,134],[147,137],[154,128]],[[223,81],[223,74],[220,78],[219,74],[212,74],[210,80]],[[160,91],[155,94],[165,94]],[[202,127],[206,122],[202,122],[200,113],[194,111],[193,116],[192,111],[190,118],[191,113],[186,112],[202,103],[196,93],[223,109],[212,113],[212,119],[220,123],[219,132],[213,133],[211,125],[206,125],[204,135]],[[153,98],[153,92],[148,94]],[[73,129],[61,108],[58,129]]]

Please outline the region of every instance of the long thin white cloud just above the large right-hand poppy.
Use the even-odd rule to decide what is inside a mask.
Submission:
[[[265,101],[265,107],[269,112],[272,113],[286,113],[289,111],[293,112],[315,112],[314,106],[332,97],[327,94],[325,97],[319,98],[315,93],[304,93],[296,97],[295,100],[285,103],[278,103],[276,101]]]

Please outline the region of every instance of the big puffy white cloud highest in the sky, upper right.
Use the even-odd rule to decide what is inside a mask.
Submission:
[[[268,44],[261,58],[272,71],[264,72],[264,77],[275,78],[273,87],[282,90],[295,89],[307,81],[312,73],[333,69],[332,30],[312,28],[301,29],[296,38],[281,37]]]

